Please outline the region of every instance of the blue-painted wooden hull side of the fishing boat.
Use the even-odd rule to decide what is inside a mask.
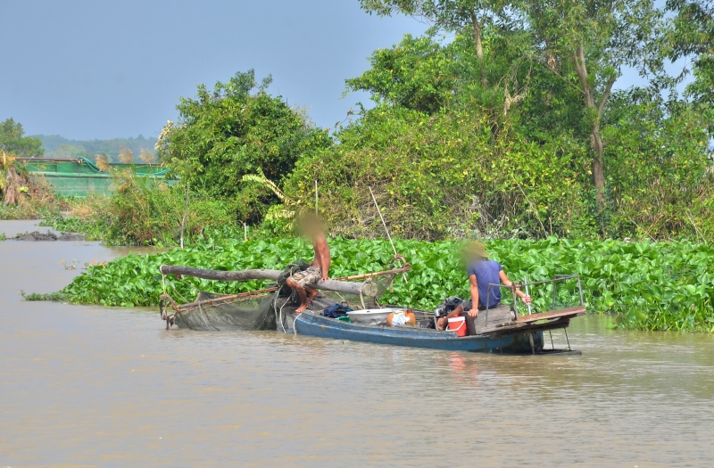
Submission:
[[[459,338],[453,332],[416,327],[391,327],[340,322],[332,318],[303,314],[295,318],[295,332],[303,335],[335,340],[409,346],[412,348],[443,349],[446,351],[502,351],[531,353],[528,333],[500,338],[488,335]],[[543,332],[534,332],[535,352],[543,349]]]

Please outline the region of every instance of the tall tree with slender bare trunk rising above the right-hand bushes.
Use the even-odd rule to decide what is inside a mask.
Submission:
[[[532,31],[539,60],[582,95],[593,151],[593,184],[602,209],[603,114],[624,68],[644,74],[658,63],[658,51],[651,45],[660,32],[662,12],[653,0],[526,0],[520,11]]]

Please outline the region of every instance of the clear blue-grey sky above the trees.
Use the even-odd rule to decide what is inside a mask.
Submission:
[[[0,0],[0,120],[27,135],[155,137],[179,96],[254,69],[272,75],[270,94],[333,127],[369,101],[343,98],[345,78],[426,28],[358,0]],[[629,71],[619,87],[638,79]]]

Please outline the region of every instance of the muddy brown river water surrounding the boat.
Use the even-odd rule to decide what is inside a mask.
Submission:
[[[712,465],[708,335],[589,316],[582,357],[503,357],[21,300],[129,250],[0,242],[0,466]]]

